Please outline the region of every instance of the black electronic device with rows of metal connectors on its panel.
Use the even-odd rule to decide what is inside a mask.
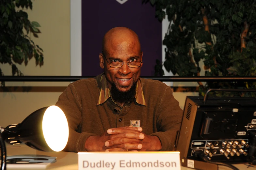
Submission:
[[[250,162],[256,152],[255,136],[255,98],[214,97],[206,101],[188,96],[175,145],[182,166],[217,170],[205,157],[211,162]]]

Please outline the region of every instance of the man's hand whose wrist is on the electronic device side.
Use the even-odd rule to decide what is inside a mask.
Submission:
[[[157,136],[150,136],[150,135],[146,135],[143,132],[140,132],[140,137],[141,137],[140,140],[135,140],[135,139],[124,140],[123,138],[118,137],[118,134],[121,134],[122,131],[123,130],[120,128],[107,130],[107,132],[109,134],[112,134],[113,136],[109,141],[105,142],[105,146],[112,147],[107,149],[106,151],[125,151],[125,150],[120,150],[121,148],[135,149],[138,151],[159,151],[162,149],[161,142]],[[116,136],[114,136],[115,134]],[[139,144],[139,145],[137,145],[137,148],[129,148],[132,144]]]

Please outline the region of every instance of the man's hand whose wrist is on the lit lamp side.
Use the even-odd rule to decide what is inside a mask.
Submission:
[[[144,139],[141,127],[122,127],[108,129],[100,136],[89,136],[85,142],[87,151],[128,151],[142,148]],[[113,145],[112,141],[116,144]]]

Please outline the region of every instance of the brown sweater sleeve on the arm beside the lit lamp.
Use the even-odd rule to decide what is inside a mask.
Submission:
[[[79,127],[82,122],[82,105],[81,99],[78,97],[74,84],[68,85],[65,91],[59,96],[56,106],[62,109],[67,117],[69,124],[69,138],[67,146],[63,151],[80,152],[86,151],[85,141],[93,133],[79,133]]]

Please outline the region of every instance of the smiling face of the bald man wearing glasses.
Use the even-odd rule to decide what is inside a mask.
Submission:
[[[107,44],[105,49],[108,49],[105,50],[106,52],[104,51],[108,62],[121,61],[128,63],[129,61],[142,61],[140,45],[136,40],[125,40],[122,42],[117,40]],[[123,64],[120,68],[112,68],[102,55],[100,55],[100,66],[104,69],[108,87],[111,88],[114,83],[121,92],[129,91],[140,76],[141,66],[131,68],[128,64]]]

